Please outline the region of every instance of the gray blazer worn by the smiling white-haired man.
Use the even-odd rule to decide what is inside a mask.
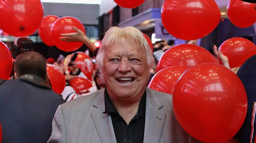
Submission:
[[[104,89],[60,105],[53,119],[48,143],[116,143],[109,114],[105,111]],[[172,95],[146,88],[144,143],[195,143],[178,123]]]

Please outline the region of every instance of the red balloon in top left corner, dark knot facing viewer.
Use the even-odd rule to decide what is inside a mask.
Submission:
[[[0,28],[15,37],[33,34],[44,16],[39,0],[0,0]]]

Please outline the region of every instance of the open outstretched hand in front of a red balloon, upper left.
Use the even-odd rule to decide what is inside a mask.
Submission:
[[[75,26],[73,26],[73,29],[76,32],[73,33],[62,33],[60,34],[63,37],[60,37],[59,39],[66,42],[72,42],[72,41],[79,41],[83,42],[86,37],[86,35],[81,31],[80,29],[77,29]]]

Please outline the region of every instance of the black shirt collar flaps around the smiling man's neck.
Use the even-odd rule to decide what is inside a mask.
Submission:
[[[114,106],[114,104],[112,103],[109,95],[108,95],[108,92],[107,92],[107,88],[105,88],[105,91],[104,91],[104,99],[105,99],[105,112],[103,112],[104,114],[106,113],[117,113],[117,109],[116,107]],[[146,90],[145,92],[143,93],[142,97],[141,97],[141,100],[139,102],[139,109],[138,109],[138,115],[141,116],[141,117],[145,117],[145,113],[146,113]]]

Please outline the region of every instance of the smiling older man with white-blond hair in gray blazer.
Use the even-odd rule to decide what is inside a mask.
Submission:
[[[96,56],[106,88],[60,105],[48,143],[192,143],[172,95],[147,88],[151,48],[134,27],[110,28]]]

